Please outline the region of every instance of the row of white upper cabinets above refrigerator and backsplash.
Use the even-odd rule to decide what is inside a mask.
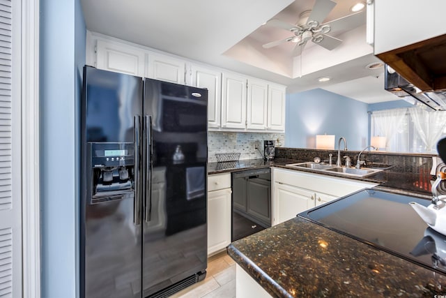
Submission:
[[[283,132],[285,86],[87,32],[86,64],[97,68],[208,89],[213,131]]]

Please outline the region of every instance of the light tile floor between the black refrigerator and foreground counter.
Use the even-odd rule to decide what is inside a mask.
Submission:
[[[208,259],[208,269],[204,281],[191,285],[171,298],[235,298],[236,262],[226,251]]]

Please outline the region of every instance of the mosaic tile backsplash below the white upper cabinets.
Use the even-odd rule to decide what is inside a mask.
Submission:
[[[220,131],[208,132],[208,162],[217,161],[216,153],[239,152],[240,160],[262,158],[263,141],[275,140],[276,147],[285,143],[284,133],[229,133]],[[277,142],[279,140],[279,142]],[[259,150],[254,149],[258,147]]]

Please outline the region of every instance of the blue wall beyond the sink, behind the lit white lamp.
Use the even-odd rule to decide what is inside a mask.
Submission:
[[[313,89],[286,96],[285,147],[315,148],[316,135],[345,137],[350,150],[361,150],[368,144],[367,103]],[[341,144],[344,148],[344,144]]]

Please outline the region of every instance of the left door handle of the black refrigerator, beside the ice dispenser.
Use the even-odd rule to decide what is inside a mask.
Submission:
[[[133,202],[133,223],[134,225],[141,224],[141,202],[142,202],[142,192],[141,192],[141,162],[140,156],[141,151],[140,146],[140,126],[141,117],[136,115],[134,117],[134,202]]]

